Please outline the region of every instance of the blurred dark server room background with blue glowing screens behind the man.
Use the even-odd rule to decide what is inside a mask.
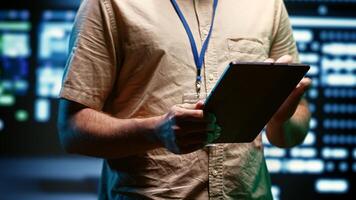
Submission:
[[[6,3],[5,3],[6,2]],[[352,199],[356,191],[356,0],[285,0],[311,65],[304,143],[265,156],[275,199]],[[96,199],[101,160],[66,154],[57,96],[80,0],[0,6],[0,199]]]

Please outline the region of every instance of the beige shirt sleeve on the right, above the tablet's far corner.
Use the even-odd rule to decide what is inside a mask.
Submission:
[[[293,57],[293,62],[299,62],[298,50],[293,37],[293,30],[287,9],[282,0],[277,0],[273,38],[269,57],[277,60],[286,54]]]

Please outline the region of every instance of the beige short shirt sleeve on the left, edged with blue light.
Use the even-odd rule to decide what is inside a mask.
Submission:
[[[109,0],[84,0],[78,10],[60,98],[101,110],[118,72],[116,22]]]

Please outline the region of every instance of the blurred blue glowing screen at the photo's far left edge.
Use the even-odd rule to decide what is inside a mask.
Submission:
[[[30,87],[30,13],[27,10],[0,10],[0,133],[13,120],[26,120],[28,109],[20,102]],[[21,108],[21,109],[20,109]]]

